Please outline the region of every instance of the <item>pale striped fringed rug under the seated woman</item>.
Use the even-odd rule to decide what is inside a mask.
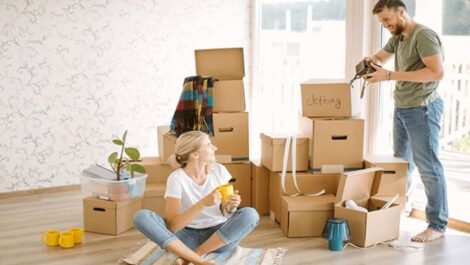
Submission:
[[[237,247],[224,253],[210,253],[204,259],[214,260],[217,264],[227,265],[278,265],[287,252],[284,248],[244,248]],[[161,249],[153,242],[147,242],[136,252],[121,259],[119,264],[131,265],[171,265],[176,255]],[[192,263],[191,263],[192,264]]]

